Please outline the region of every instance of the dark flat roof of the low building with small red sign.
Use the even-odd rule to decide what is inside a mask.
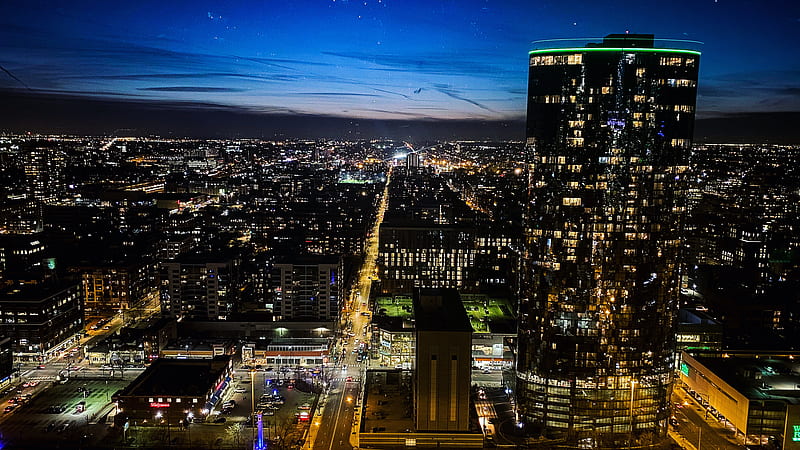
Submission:
[[[122,396],[203,397],[225,372],[229,357],[159,358],[128,385]]]

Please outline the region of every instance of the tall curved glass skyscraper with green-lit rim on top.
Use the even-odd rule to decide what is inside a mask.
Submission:
[[[656,41],[530,52],[517,402],[567,446],[666,435],[700,53]]]

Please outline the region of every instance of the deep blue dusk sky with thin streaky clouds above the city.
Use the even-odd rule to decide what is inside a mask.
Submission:
[[[0,129],[300,133],[324,117],[519,137],[532,41],[626,31],[704,42],[698,119],[715,133],[800,111],[797,1],[4,0],[0,13]]]

